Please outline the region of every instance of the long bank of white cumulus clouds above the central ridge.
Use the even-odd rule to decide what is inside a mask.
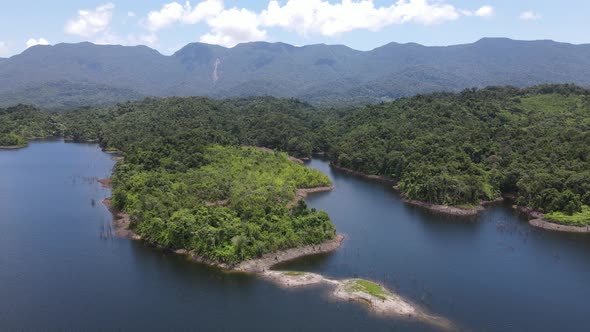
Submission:
[[[444,0],[391,0],[377,6],[372,0],[271,0],[266,8],[254,12],[245,8],[225,8],[222,0],[204,0],[196,5],[170,2],[151,11],[144,25],[152,32],[172,24],[205,22],[210,31],[202,42],[234,46],[237,43],[265,40],[267,28],[281,28],[300,35],[336,36],[353,30],[377,31],[392,24],[435,25],[461,16],[490,17],[494,8],[463,10]]]

